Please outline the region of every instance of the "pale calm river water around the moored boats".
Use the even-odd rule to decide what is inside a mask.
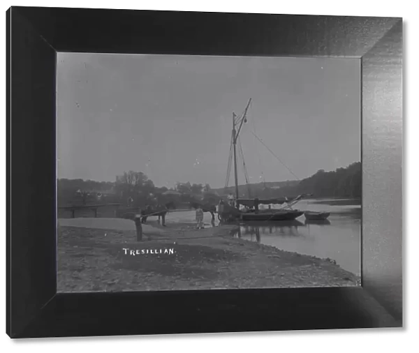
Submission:
[[[294,207],[302,211],[328,211],[328,222],[307,223],[304,216],[292,222],[247,222],[235,237],[257,241],[281,250],[335,260],[341,268],[360,276],[361,206],[359,200],[302,200]],[[168,214],[168,221],[193,223],[194,211]],[[205,213],[205,226],[211,217]],[[217,225],[217,223],[215,224]]]

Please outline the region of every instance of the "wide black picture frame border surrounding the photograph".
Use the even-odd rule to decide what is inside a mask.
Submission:
[[[11,338],[402,326],[401,18],[11,7]],[[57,52],[362,62],[362,287],[57,294]]]

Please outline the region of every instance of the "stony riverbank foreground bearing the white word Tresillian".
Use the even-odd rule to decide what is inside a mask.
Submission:
[[[135,230],[59,225],[59,292],[357,285],[330,260],[235,239],[233,225],[151,225],[140,243]]]

